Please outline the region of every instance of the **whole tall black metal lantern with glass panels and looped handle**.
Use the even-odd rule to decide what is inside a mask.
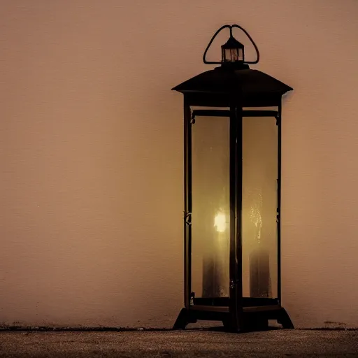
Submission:
[[[225,28],[222,61],[206,61]],[[255,61],[233,28],[250,38]],[[236,24],[216,31],[203,62],[221,66],[173,88],[184,94],[185,121],[185,308],[173,328],[293,328],[280,296],[281,101],[292,88],[249,68],[259,50]]]

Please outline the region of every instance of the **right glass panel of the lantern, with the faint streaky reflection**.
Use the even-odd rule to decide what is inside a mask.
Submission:
[[[278,296],[278,127],[243,117],[243,296]]]

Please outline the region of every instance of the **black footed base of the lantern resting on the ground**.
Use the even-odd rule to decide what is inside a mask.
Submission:
[[[263,331],[268,329],[268,320],[276,320],[283,329],[294,329],[285,308],[280,305],[243,307],[239,326],[234,323],[229,307],[191,305],[180,310],[173,329],[185,329],[187,324],[198,320],[221,321],[224,329],[231,332]]]

